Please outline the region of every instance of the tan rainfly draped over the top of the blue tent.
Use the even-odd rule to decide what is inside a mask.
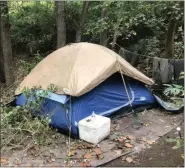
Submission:
[[[16,94],[20,94],[24,87],[40,86],[46,90],[53,84],[57,94],[80,96],[120,70],[145,84],[154,84],[114,51],[82,42],[67,45],[48,55],[22,81]]]

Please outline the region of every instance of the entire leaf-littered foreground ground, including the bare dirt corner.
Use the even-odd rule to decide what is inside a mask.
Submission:
[[[101,151],[100,156],[103,156],[103,159],[98,159],[99,155],[96,156],[95,147],[73,139],[71,141],[73,151],[71,152],[73,154],[69,160],[67,158],[68,139],[64,136],[64,139],[58,139],[59,142],[54,139],[53,142],[56,146],[38,146],[34,143],[32,146],[27,144],[23,150],[16,149],[10,153],[4,153],[4,156],[8,159],[8,161],[5,161],[6,166],[80,166],[82,163],[84,165],[85,158],[90,158],[88,164],[93,167],[102,164],[104,167],[183,166],[183,159],[181,158],[183,149],[172,150],[174,144],[166,142],[167,136],[178,138],[178,134],[173,129],[176,129],[183,121],[182,113],[169,115],[159,109],[151,109],[139,113],[136,122],[138,127],[133,127],[132,121],[134,121],[132,115],[113,121],[110,136],[99,144],[98,151]],[[168,133],[169,131],[170,133]],[[127,136],[133,137],[131,141],[123,140],[123,137]],[[143,138],[146,138],[146,140]],[[131,148],[128,145],[125,146],[126,143],[129,146],[131,145]],[[116,159],[123,156],[128,148],[135,151],[135,153],[141,152]],[[132,163],[128,163],[128,160],[122,161],[123,158],[128,159],[128,157],[133,159]]]

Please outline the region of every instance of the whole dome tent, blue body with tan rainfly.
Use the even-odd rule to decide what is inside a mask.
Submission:
[[[110,49],[77,43],[51,53],[30,72],[16,90],[16,105],[27,102],[24,87],[39,86],[36,94],[42,97],[54,84],[57,90],[44,98],[39,114],[49,115],[50,125],[65,132],[71,123],[72,134],[78,136],[78,122],[93,112],[110,116],[131,105],[152,106],[156,100],[145,84],[153,83]]]

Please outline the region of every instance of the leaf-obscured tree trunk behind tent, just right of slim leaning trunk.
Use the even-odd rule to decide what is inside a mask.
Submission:
[[[108,11],[107,11],[107,8],[104,7],[102,9],[101,18],[106,19],[107,17],[108,17]],[[100,45],[106,46],[107,45],[107,29],[104,29],[103,25],[102,25],[102,29],[103,30],[100,33]]]

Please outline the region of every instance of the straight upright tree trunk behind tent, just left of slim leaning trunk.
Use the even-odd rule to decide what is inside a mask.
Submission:
[[[66,45],[65,1],[55,1],[57,48]]]

